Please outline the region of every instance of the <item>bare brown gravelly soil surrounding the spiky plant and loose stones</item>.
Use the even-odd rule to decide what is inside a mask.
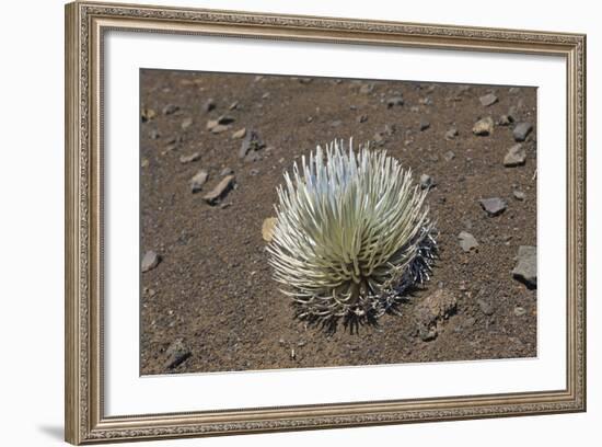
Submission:
[[[367,83],[374,84],[368,93],[360,90]],[[483,106],[479,96],[490,91],[499,101]],[[389,108],[386,100],[400,93],[405,104]],[[210,98],[217,106],[207,113]],[[233,102],[238,106],[229,110]],[[163,114],[169,104],[178,111]],[[512,125],[496,125],[491,136],[472,134],[479,117],[497,122],[510,106],[535,124],[536,90],[143,70],[141,107],[155,116],[141,124],[140,251],[153,250],[162,261],[141,274],[141,374],[535,356],[536,290],[513,279],[511,270],[519,245],[536,245],[536,131],[524,144],[526,164],[518,168],[502,164],[514,144]],[[207,121],[222,114],[235,122],[211,134]],[[186,118],[193,123],[183,130]],[[420,130],[421,121],[430,127]],[[391,135],[385,125],[394,126]],[[448,140],[452,126],[459,136]],[[269,148],[262,160],[239,159],[241,140],[232,134],[242,127]],[[379,147],[412,168],[416,181],[422,173],[436,181],[428,204],[440,231],[440,259],[401,317],[385,316],[379,328],[363,326],[358,335],[341,328],[326,335],[292,319],[270,276],[262,222],[274,215],[283,170],[301,154],[335,137],[366,141],[377,133],[383,134]],[[165,152],[173,137],[183,140]],[[450,150],[455,157],[447,161]],[[198,161],[181,163],[195,151]],[[209,206],[202,196],[227,167],[236,187],[222,206]],[[209,180],[193,194],[189,180],[201,168]],[[523,202],[514,188],[525,193]],[[508,208],[488,217],[477,200],[495,196]],[[462,251],[462,230],[478,240],[476,251]],[[416,309],[438,287],[455,295],[456,311],[425,342]],[[517,307],[526,312],[517,316]],[[177,339],[190,355],[170,369],[166,349]]]

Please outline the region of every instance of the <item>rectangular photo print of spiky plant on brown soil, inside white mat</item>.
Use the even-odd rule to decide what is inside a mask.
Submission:
[[[537,355],[537,90],[140,70],[140,374]]]

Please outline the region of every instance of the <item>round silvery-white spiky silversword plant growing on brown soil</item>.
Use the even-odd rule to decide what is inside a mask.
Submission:
[[[429,278],[433,225],[412,171],[368,145],[335,140],[285,173],[267,247],[274,277],[296,317],[357,330],[396,312],[408,288]]]

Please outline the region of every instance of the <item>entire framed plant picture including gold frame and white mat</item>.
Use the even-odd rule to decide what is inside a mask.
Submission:
[[[586,36],[66,7],[72,444],[586,410]]]

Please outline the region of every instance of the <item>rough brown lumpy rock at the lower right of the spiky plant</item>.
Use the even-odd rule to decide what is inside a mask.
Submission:
[[[448,319],[455,311],[455,296],[442,288],[437,289],[418,303],[415,321],[420,340],[424,342],[435,340],[442,321]]]

